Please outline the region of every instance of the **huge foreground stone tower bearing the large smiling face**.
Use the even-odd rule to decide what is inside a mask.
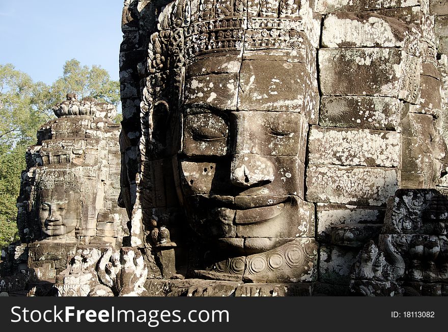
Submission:
[[[125,1],[122,193],[146,289],[351,294],[388,198],[446,181],[443,6]]]

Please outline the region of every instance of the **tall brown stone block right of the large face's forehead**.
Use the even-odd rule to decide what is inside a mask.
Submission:
[[[395,48],[321,49],[323,95],[384,96],[413,100],[418,58]]]

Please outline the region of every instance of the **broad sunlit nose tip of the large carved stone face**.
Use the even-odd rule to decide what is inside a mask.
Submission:
[[[274,180],[274,165],[266,158],[254,154],[237,154],[231,165],[231,181],[238,187],[250,187]]]

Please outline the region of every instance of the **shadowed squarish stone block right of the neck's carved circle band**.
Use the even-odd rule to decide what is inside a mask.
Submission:
[[[319,253],[319,281],[348,285],[350,269],[356,261],[358,250],[339,246],[321,246]]]

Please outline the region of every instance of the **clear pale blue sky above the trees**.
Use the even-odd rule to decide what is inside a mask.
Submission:
[[[47,84],[76,58],[118,80],[123,0],[0,0],[0,64]]]

